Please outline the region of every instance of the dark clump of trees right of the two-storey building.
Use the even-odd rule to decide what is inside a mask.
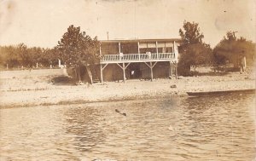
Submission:
[[[183,29],[179,30],[182,39],[178,73],[190,75],[190,67],[219,66],[232,63],[234,68],[241,67],[241,60],[245,57],[247,65],[253,66],[255,58],[255,43],[244,37],[236,37],[236,32],[227,32],[222,40],[212,49],[203,42],[204,35],[198,23],[183,22]]]

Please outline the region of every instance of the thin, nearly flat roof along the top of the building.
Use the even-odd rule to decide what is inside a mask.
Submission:
[[[101,43],[150,43],[150,42],[177,42],[181,41],[180,38],[158,38],[158,39],[119,39],[119,40],[100,40]]]

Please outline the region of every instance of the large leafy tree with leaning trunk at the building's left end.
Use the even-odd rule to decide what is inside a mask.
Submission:
[[[97,37],[93,39],[80,32],[80,27],[69,26],[67,32],[58,42],[56,49],[60,54],[60,59],[67,63],[67,66],[76,67],[80,80],[79,66],[95,64],[100,60],[99,54],[100,43]]]

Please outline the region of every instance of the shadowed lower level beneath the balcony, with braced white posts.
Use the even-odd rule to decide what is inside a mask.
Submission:
[[[141,61],[100,64],[101,82],[127,79],[177,78],[177,61]]]

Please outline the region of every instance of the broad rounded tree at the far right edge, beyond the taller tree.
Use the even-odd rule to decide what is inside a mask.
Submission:
[[[237,38],[236,32],[227,32],[226,36],[213,49],[216,66],[224,65],[227,61],[235,67],[241,66],[241,59],[247,58],[247,64],[252,65],[255,57],[255,44],[244,37]]]

